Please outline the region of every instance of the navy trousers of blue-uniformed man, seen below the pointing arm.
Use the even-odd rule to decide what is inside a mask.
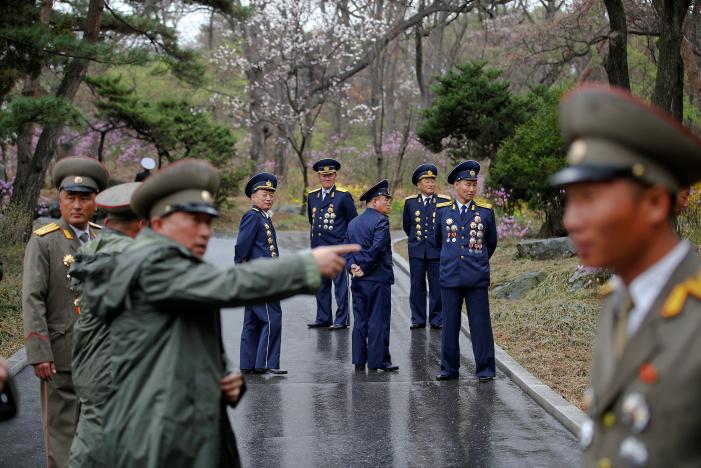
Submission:
[[[279,302],[246,307],[241,331],[241,369],[279,369],[281,338]]]

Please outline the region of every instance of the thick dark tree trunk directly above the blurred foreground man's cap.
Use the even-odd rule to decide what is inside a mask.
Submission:
[[[660,18],[659,55],[652,103],[681,120],[683,115],[683,67],[680,66],[682,25],[691,0],[654,0]],[[681,75],[681,76],[680,76]]]

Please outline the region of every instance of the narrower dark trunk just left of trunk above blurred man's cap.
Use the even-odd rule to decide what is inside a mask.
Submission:
[[[609,52],[604,61],[604,68],[609,83],[630,90],[628,76],[628,26],[623,0],[604,0],[608,12]]]

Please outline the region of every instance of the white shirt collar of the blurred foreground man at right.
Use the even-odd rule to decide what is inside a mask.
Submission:
[[[674,269],[684,260],[684,257],[689,252],[689,243],[687,241],[679,242],[672,250],[667,252],[667,255],[662,257],[650,268],[638,275],[628,287],[630,297],[635,305],[630,311],[628,317],[628,335],[632,336],[640,328],[645,316],[650,311],[652,303],[655,302],[657,296],[660,295],[667,280]],[[619,284],[623,284],[620,278],[617,278]]]

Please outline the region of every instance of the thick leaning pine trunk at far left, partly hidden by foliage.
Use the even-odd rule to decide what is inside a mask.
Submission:
[[[99,38],[103,7],[104,0],[90,0],[88,14],[85,19],[86,33],[83,37],[83,40],[88,43],[94,44]],[[66,67],[61,84],[56,91],[56,96],[73,101],[87,68],[87,60],[73,59]],[[60,123],[51,123],[44,126],[34,151],[34,156],[29,161],[20,162],[18,160],[17,162],[17,176],[11,203],[24,213],[31,214],[34,211],[49,162],[56,154],[56,144],[62,129],[63,125]],[[28,217],[28,219],[31,218]],[[26,226],[25,232],[27,236],[30,234],[31,222]]]

